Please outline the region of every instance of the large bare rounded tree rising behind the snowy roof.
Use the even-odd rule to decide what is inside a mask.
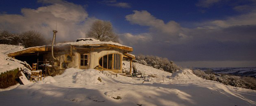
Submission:
[[[98,39],[99,41],[119,42],[117,34],[114,33],[111,22],[97,20],[86,33],[86,37]]]

